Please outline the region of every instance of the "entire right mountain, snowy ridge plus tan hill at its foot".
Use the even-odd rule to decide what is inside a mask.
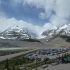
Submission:
[[[70,24],[62,25],[56,29],[46,30],[46,36],[41,41],[49,47],[70,47]]]

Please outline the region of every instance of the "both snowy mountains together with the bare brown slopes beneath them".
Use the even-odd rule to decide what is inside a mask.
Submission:
[[[37,33],[16,25],[0,33],[0,47],[49,48],[70,46],[70,43],[66,41],[67,38],[60,37],[70,36],[70,24],[46,30],[41,35],[43,37],[38,39]]]

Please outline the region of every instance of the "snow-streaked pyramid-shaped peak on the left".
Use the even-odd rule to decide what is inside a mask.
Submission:
[[[30,36],[19,26],[15,25],[0,33],[1,39],[29,39]]]

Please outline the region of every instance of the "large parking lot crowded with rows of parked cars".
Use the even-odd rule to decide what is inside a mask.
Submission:
[[[33,51],[32,53],[27,55],[29,59],[37,59],[39,61],[44,60],[45,58],[56,58],[58,56],[62,56],[64,53],[69,53],[68,48],[60,48],[60,49],[41,49]]]

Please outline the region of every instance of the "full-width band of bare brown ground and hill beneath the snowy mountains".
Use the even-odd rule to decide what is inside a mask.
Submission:
[[[23,48],[54,48],[54,47],[70,47],[70,43],[60,37],[47,39],[39,39],[40,42],[27,42],[20,40],[4,40],[0,39],[0,47],[23,47]]]

